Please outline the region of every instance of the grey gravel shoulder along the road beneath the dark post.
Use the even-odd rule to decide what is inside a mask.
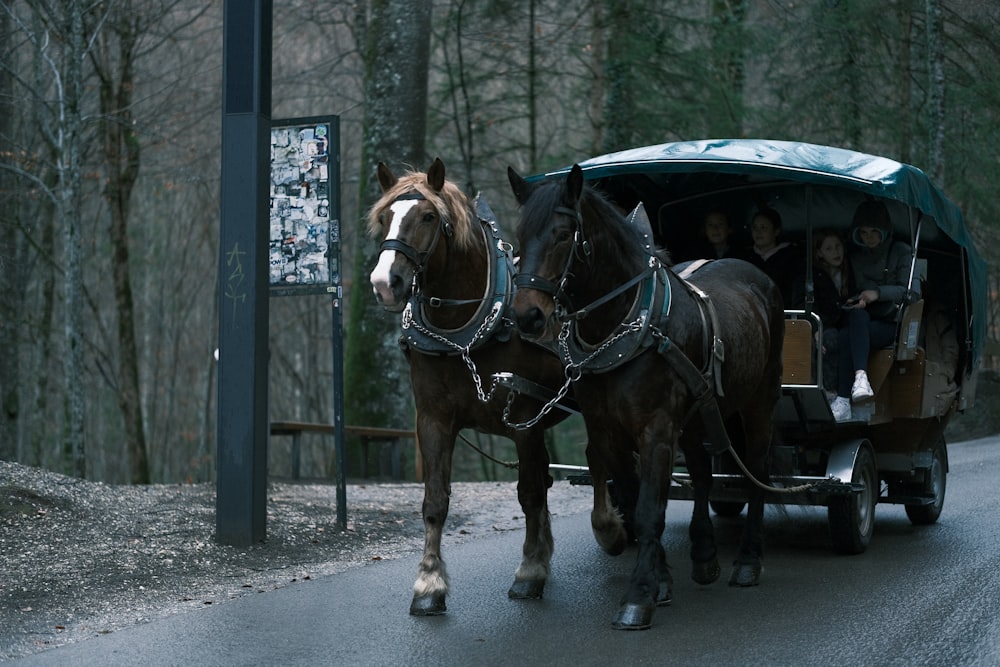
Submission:
[[[205,605],[222,604],[423,544],[423,486],[349,484],[347,530],[333,484],[268,484],[267,539],[215,542],[212,484],[117,486],[0,461],[0,661]],[[559,481],[553,515],[590,510]],[[452,485],[444,547],[522,530],[514,483]]]

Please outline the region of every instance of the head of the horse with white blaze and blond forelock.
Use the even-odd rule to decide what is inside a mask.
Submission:
[[[445,180],[440,158],[434,159],[426,174],[411,172],[399,178],[379,162],[378,182],[382,197],[368,214],[368,231],[380,240],[379,258],[369,279],[379,303],[399,312],[439,252],[441,238],[455,235],[455,214],[448,202],[460,198],[466,204],[467,200]]]

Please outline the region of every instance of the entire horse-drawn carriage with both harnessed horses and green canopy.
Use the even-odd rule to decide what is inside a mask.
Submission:
[[[765,498],[826,505],[835,547],[851,553],[868,544],[878,502],[904,504],[914,523],[937,520],[944,428],[975,394],[986,281],[961,214],[922,172],[841,149],[745,140],[664,144],[508,176],[521,205],[516,275],[489,208],[447,181],[440,160],[399,178],[379,167],[383,197],[368,221],[381,252],[370,279],[379,302],[402,313],[423,457],[426,539],[411,614],[446,610],[441,536],[463,428],[517,445],[525,541],[508,594],[542,597],[553,553],[542,431],[565,416],[554,408],[570,393],[587,425],[594,536],[613,555],[637,544],[616,628],[650,627],[655,607],[671,600],[661,544],[668,498],[694,500],[699,584],[721,574],[710,506],[748,507],[729,579],[738,587],[759,581]],[[872,357],[870,409],[837,421],[805,248],[820,227],[846,228],[866,198],[888,207],[912,249],[907,280],[922,289],[902,299],[894,345]],[[745,223],[762,205],[780,211],[803,248],[803,308],[785,309],[779,286],[748,262],[671,266],[660,248],[678,257],[693,248],[710,208]],[[546,340],[555,348],[533,344]]]

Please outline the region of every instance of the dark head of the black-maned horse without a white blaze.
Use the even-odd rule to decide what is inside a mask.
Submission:
[[[571,274],[580,276],[584,267],[574,271],[577,258],[586,260],[590,245],[583,237],[580,200],[583,194],[583,170],[573,165],[565,182],[528,183],[513,168],[507,178],[521,218],[517,239],[521,257],[514,278],[514,315],[518,328],[526,336],[552,337],[550,324],[560,312],[572,311],[572,295],[567,291]]]

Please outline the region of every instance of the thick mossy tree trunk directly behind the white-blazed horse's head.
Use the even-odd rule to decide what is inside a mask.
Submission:
[[[379,426],[413,423],[409,377],[397,339],[397,317],[375,306],[368,271],[377,248],[366,240],[364,210],[377,199],[372,175],[379,161],[393,169],[420,167],[425,150],[430,0],[375,0],[367,25],[366,94],[345,387],[348,422]],[[356,457],[355,457],[356,458]]]

